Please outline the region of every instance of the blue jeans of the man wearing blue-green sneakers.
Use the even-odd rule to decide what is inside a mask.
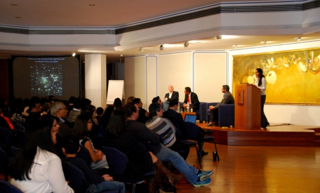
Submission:
[[[198,180],[198,170],[188,164],[179,153],[172,151],[163,144],[161,144],[161,150],[155,156],[161,161],[168,159],[170,163],[177,168],[177,170],[185,175],[185,178],[190,184],[194,184]]]

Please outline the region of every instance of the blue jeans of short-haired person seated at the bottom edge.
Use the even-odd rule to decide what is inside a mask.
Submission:
[[[119,190],[119,193],[126,193],[125,183],[117,181],[105,181],[99,184],[91,184],[86,193],[101,193],[109,190]]]

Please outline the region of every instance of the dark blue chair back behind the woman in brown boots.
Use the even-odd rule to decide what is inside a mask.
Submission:
[[[117,176],[123,176],[129,163],[128,157],[123,152],[114,147],[103,146],[106,153],[109,170]]]

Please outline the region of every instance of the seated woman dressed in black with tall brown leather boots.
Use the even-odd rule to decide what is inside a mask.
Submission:
[[[126,129],[127,113],[124,109],[112,112],[104,136],[104,145],[114,147],[127,155],[129,164],[126,169],[128,176],[142,176],[156,169],[158,174],[166,177],[169,184],[174,185],[183,178],[183,174],[176,176],[170,173],[153,153],[144,150],[134,138],[134,134]],[[154,193],[153,182],[148,182],[148,191]]]

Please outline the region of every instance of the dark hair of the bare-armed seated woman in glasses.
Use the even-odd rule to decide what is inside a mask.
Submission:
[[[88,115],[81,114],[75,119],[72,134],[77,136],[80,140],[88,136],[88,122],[91,118]]]

